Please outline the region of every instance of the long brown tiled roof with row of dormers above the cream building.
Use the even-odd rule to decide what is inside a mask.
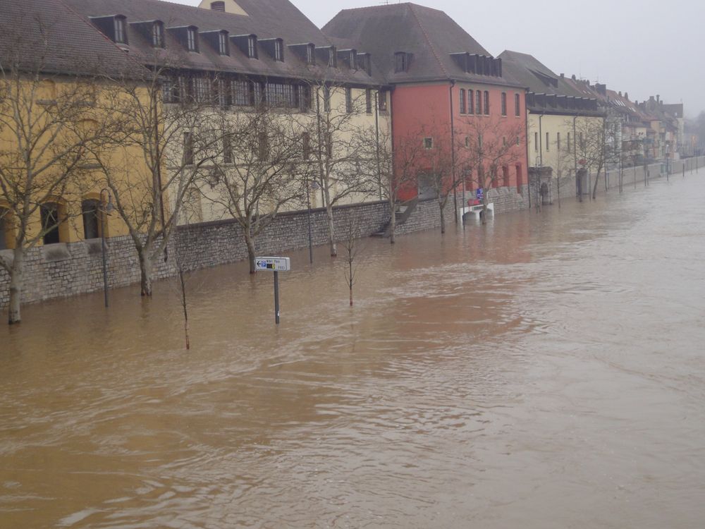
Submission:
[[[268,75],[279,78],[326,78],[360,84],[380,84],[361,70],[343,66],[308,66],[290,49],[289,44],[312,43],[326,47],[331,43],[301,11],[288,0],[238,0],[247,16],[212,11],[161,0],[64,0],[76,12],[90,17],[125,16],[128,23],[128,46],[131,55],[142,63],[159,63],[200,71],[226,71],[247,75]],[[145,35],[133,23],[161,20],[164,23],[165,49],[154,49]],[[185,49],[169,28],[195,26],[198,32],[226,30],[229,35],[257,35],[257,39],[283,39],[284,61],[260,49],[258,59],[248,58],[231,42],[230,56],[221,56],[217,49],[200,38],[199,51]],[[360,49],[358,51],[365,51]],[[320,61],[319,61],[320,62]],[[373,72],[374,73],[374,72]]]

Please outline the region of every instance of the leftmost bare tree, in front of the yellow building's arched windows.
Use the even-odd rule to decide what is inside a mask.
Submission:
[[[12,248],[11,257],[0,256],[0,267],[10,277],[10,324],[21,320],[27,250],[81,213],[82,194],[92,188],[90,152],[104,148],[111,128],[111,116],[97,109],[102,85],[94,77],[44,73],[43,50],[27,61],[27,42],[16,37],[4,36],[13,46],[0,58],[0,219],[6,231],[0,236]]]

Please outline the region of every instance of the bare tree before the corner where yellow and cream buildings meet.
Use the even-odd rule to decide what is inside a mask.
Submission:
[[[110,104],[122,123],[114,139],[123,163],[114,163],[114,154],[96,157],[137,250],[142,296],[152,296],[154,262],[168,257],[183,204],[217,145],[211,134],[201,134],[209,130],[211,81],[178,72],[159,63],[141,79],[111,79]],[[144,163],[130,163],[134,157]]]

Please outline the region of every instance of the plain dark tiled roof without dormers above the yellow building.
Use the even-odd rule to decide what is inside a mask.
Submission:
[[[0,0],[0,62],[44,73],[139,75],[142,67],[61,0]]]

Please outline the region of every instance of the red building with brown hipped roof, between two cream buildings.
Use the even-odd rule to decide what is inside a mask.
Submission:
[[[392,87],[393,146],[421,146],[418,190],[433,193],[424,172],[443,170],[446,186],[505,187],[525,193],[525,89],[443,11],[392,4],[338,13],[323,31],[369,50]]]

